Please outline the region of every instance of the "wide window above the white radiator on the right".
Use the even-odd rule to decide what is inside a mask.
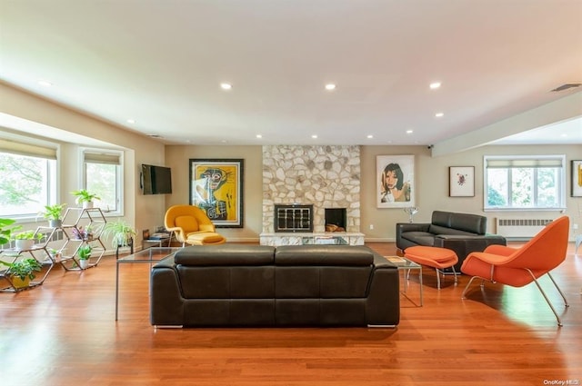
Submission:
[[[485,156],[485,209],[563,209],[564,155]]]

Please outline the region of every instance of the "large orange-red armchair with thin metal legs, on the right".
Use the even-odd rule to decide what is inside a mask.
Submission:
[[[561,326],[562,322],[556,309],[549,302],[546,292],[542,290],[537,279],[547,274],[557,291],[562,295],[566,307],[568,306],[566,296],[549,272],[566,259],[569,223],[567,216],[562,216],[548,223],[542,231],[521,248],[489,245],[484,252],[470,253],[461,266],[461,272],[473,277],[467,283],[462,298],[466,299],[467,290],[476,278],[481,279],[481,287],[486,280],[512,287],[523,287],[530,282],[535,282],[537,289],[556,315],[557,325]]]

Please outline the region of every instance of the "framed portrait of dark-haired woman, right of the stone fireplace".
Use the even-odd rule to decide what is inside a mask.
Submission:
[[[376,206],[415,206],[415,156],[376,156]]]

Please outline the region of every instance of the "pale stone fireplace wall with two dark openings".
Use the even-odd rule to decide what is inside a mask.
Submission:
[[[326,209],[340,210],[346,233],[363,240],[359,146],[263,146],[261,243],[271,233],[282,237],[276,231],[276,205],[313,205],[313,233],[326,233]]]

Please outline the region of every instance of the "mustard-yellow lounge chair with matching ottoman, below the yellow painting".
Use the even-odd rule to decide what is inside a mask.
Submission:
[[[166,230],[176,235],[176,240],[190,245],[222,244],[226,238],[215,232],[215,224],[206,213],[193,205],[174,205],[166,211]]]

